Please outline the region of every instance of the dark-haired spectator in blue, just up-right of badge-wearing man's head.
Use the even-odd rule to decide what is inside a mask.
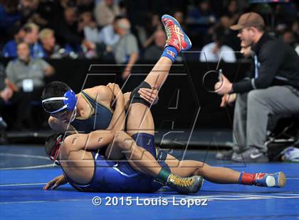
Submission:
[[[31,57],[43,57],[43,48],[38,42],[39,27],[35,23],[26,23],[23,30],[25,31],[23,41],[29,45]]]

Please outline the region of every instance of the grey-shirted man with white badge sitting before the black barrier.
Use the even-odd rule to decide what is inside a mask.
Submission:
[[[54,69],[48,62],[30,56],[29,46],[19,43],[18,58],[11,60],[6,67],[7,83],[14,89],[11,101],[16,104],[16,121],[14,129],[22,129],[23,122],[33,126],[31,101],[39,100],[45,85],[44,77],[53,75]]]

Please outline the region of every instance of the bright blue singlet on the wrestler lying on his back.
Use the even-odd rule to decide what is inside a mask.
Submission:
[[[132,138],[137,138],[135,140],[137,145],[146,148],[156,156],[154,136],[138,133]],[[162,187],[159,182],[154,182],[153,177],[133,170],[128,162],[115,162],[106,160],[100,153],[92,154],[95,160],[95,170],[93,179],[88,185],[78,185],[65,175],[75,189],[83,192],[155,192]],[[159,161],[159,164],[169,169],[164,161]]]

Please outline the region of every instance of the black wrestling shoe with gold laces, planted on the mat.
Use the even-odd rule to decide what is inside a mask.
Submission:
[[[181,194],[189,194],[198,192],[204,183],[201,176],[178,177],[177,175],[169,175],[166,185]]]

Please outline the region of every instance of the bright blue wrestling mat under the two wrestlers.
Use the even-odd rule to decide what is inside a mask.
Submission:
[[[0,219],[299,219],[299,163],[233,164],[214,160],[215,153],[189,150],[186,159],[206,158],[210,165],[246,172],[283,171],[287,183],[275,189],[205,181],[193,195],[169,189],[88,193],[69,185],[43,191],[46,182],[61,175],[44,156],[44,148],[1,145]]]

